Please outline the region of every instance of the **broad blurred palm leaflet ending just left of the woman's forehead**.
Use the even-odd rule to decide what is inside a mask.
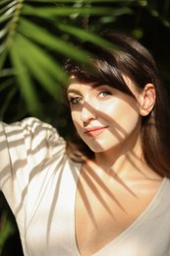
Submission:
[[[63,83],[66,80],[63,69],[42,48],[24,36],[18,35],[17,44],[20,45],[18,54],[28,74],[37,80],[51,96],[57,98],[60,90],[57,83]]]

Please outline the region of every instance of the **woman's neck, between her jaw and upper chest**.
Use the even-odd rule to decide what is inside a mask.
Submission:
[[[125,146],[125,145],[124,145]],[[121,147],[112,151],[96,153],[94,160],[87,160],[86,164],[97,173],[110,177],[119,175],[126,178],[152,178],[154,171],[149,168],[142,157],[142,143],[140,137],[131,149]]]

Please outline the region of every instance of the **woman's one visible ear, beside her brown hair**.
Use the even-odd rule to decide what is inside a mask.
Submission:
[[[152,84],[146,84],[140,94],[140,113],[142,116],[149,114],[156,99],[155,88]]]

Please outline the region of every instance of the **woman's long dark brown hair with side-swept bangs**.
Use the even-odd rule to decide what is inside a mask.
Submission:
[[[148,50],[130,35],[103,32],[101,36],[113,46],[100,47],[85,42],[82,47],[89,52],[89,65],[68,60],[65,69],[81,82],[109,85],[132,96],[123,74],[140,90],[148,83],[154,85],[155,105],[147,116],[142,117],[143,158],[159,175],[170,177],[169,104],[156,64]],[[92,158],[93,153],[78,138],[75,143],[81,146],[80,151]]]

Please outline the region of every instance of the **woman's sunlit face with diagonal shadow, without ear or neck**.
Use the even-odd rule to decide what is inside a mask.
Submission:
[[[132,82],[127,83],[133,91]],[[137,96],[137,92],[133,93]],[[134,144],[141,124],[135,97],[109,86],[84,84],[72,78],[68,98],[75,127],[91,151],[100,153],[125,142]]]

